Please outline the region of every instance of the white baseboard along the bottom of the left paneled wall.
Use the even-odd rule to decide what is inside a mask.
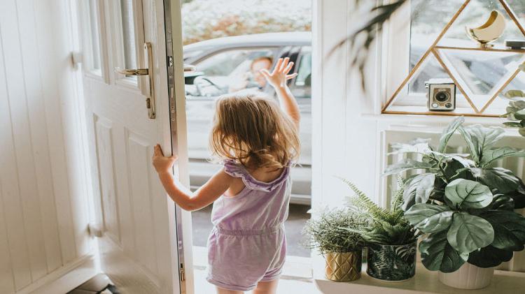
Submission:
[[[91,279],[95,274],[97,270],[94,266],[94,256],[82,256],[22,288],[17,294],[65,294]]]

